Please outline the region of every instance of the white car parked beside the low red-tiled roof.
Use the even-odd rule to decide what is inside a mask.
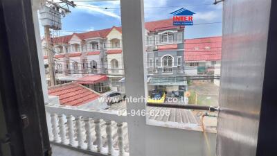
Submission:
[[[102,96],[105,97],[107,101],[107,105],[111,105],[113,103],[119,103],[120,101],[123,101],[125,98],[125,94],[120,92],[114,92],[114,91],[106,92],[102,94]]]

